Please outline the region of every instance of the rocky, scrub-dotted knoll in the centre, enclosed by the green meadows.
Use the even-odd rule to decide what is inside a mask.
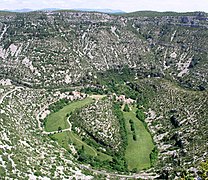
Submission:
[[[98,100],[77,110],[70,117],[70,121],[81,137],[95,139],[104,149],[121,151],[120,124],[113,112],[111,100]]]

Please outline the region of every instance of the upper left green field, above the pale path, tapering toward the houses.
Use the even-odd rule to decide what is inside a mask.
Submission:
[[[63,109],[59,110],[58,112],[51,113],[46,118],[45,131],[47,132],[57,131],[58,127],[61,127],[62,130],[69,128],[66,115],[70,112],[73,112],[76,108],[81,108],[92,102],[93,102],[92,98],[86,98],[81,101],[75,101],[73,103],[70,103],[69,105],[65,106]]]

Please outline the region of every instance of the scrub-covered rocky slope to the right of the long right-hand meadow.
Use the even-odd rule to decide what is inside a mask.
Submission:
[[[149,97],[146,122],[160,150],[156,169],[170,179],[179,172],[196,175],[196,167],[207,159],[207,91],[187,90],[163,79],[143,79],[137,85]]]

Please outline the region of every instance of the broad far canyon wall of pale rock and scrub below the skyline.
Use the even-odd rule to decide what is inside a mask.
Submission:
[[[203,13],[202,13],[203,14]],[[30,86],[77,84],[127,65],[138,76],[207,88],[207,17],[85,12],[0,15],[0,76]]]

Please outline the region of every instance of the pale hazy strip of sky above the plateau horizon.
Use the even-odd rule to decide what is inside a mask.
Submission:
[[[126,12],[138,10],[208,12],[208,0],[0,0],[0,9],[23,8],[120,9]]]

